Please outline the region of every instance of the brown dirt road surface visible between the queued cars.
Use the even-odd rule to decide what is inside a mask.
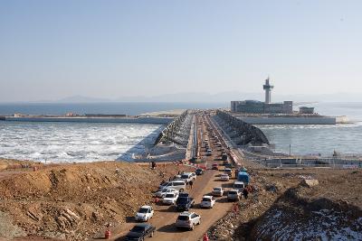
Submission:
[[[200,115],[200,114],[199,114]],[[215,161],[219,159],[221,151],[217,150],[215,144],[216,140],[213,138],[213,126],[210,126],[205,119],[204,115],[200,115],[198,118],[198,130],[197,135],[202,138],[198,139],[197,146],[199,147],[199,153],[201,159],[205,160],[207,163],[207,171],[204,175],[198,176],[193,189],[190,190],[188,187],[187,192],[190,193],[191,197],[195,199],[195,207],[190,209],[190,212],[196,212],[201,216],[201,224],[195,227],[195,230],[178,230],[175,227],[176,218],[179,212],[176,211],[175,206],[162,206],[157,205],[155,208],[154,218],[149,220],[149,223],[155,226],[156,232],[155,236],[148,238],[147,240],[156,241],[156,240],[177,240],[177,241],[192,241],[200,240],[204,236],[205,232],[209,227],[211,227],[214,222],[218,219],[223,218],[227,211],[232,209],[233,203],[227,202],[226,197],[216,198],[216,203],[213,209],[200,209],[199,203],[201,202],[202,197],[205,194],[210,193],[214,187],[222,186],[226,189],[232,187],[233,179],[230,181],[219,181],[219,175],[223,171],[211,170],[211,165],[215,162],[220,163],[221,161]],[[212,156],[206,156],[205,147],[201,147],[205,139],[209,140],[210,148],[213,150]],[[225,148],[225,147],[224,147]],[[136,223],[133,218],[128,218],[127,223],[121,227],[113,228],[113,233],[116,234],[113,236],[112,240],[123,240],[124,236],[128,233],[129,229],[133,227]]]

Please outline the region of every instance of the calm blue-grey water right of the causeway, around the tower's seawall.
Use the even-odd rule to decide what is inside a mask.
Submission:
[[[324,116],[348,116],[343,125],[258,125],[275,150],[294,154],[362,153],[362,103],[318,103],[309,105]]]

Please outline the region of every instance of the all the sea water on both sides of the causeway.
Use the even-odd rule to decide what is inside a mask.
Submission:
[[[308,105],[307,105],[308,106]],[[275,150],[293,154],[362,153],[362,103],[315,103],[320,115],[348,116],[344,125],[258,125]],[[229,103],[0,104],[0,116],[126,114],[229,107]],[[0,121],[0,158],[37,162],[117,160],[148,148],[162,125],[108,123],[30,123]]]

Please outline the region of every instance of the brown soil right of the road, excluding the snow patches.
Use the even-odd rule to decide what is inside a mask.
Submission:
[[[252,185],[256,190],[249,195],[248,199],[243,199],[239,203],[240,211],[237,213],[229,212],[209,229],[208,233],[212,240],[291,239],[291,236],[297,236],[297,233],[291,233],[290,236],[272,236],[272,234],[277,231],[287,233],[288,230],[285,228],[289,227],[292,230],[287,224],[294,222],[299,223],[298,228],[300,230],[301,227],[310,230],[312,227],[308,226],[307,222],[309,219],[313,220],[312,211],[318,212],[323,209],[343,209],[345,210],[344,213],[349,210],[349,215],[339,217],[337,212],[329,212],[329,216],[339,217],[339,219],[351,224],[357,224],[359,220],[359,226],[351,225],[351,227],[357,233],[358,231],[360,234],[362,233],[362,224],[360,223],[362,220],[361,170],[271,170],[263,169],[261,166],[248,161],[244,161],[244,165],[251,173]],[[300,181],[304,179],[317,179],[319,185],[311,188],[302,187]],[[291,193],[298,193],[298,195],[291,195]],[[271,220],[278,214],[276,210],[283,214],[280,226],[275,225]],[[326,221],[324,219],[318,220],[319,223]],[[272,230],[269,229],[270,232],[268,233],[265,231],[266,227],[272,227]],[[294,227],[294,229],[298,228]],[[338,229],[333,224],[329,228],[330,230]],[[262,230],[264,230],[263,233]],[[308,235],[307,233],[303,234]],[[321,237],[313,236],[311,231],[310,235],[311,239]]]

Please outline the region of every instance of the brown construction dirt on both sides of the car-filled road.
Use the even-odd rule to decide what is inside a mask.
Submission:
[[[183,240],[197,240],[207,229],[211,240],[362,239],[361,170],[283,170],[243,164],[254,188],[248,199],[242,199],[238,209],[223,208],[224,214],[217,213],[221,219]],[[190,170],[174,163],[151,170],[148,164],[127,162],[36,164],[34,169],[32,162],[7,160],[0,166],[0,239],[4,240],[96,237],[107,224],[126,223],[139,206],[150,204],[160,181]],[[162,220],[160,224],[169,222]]]

